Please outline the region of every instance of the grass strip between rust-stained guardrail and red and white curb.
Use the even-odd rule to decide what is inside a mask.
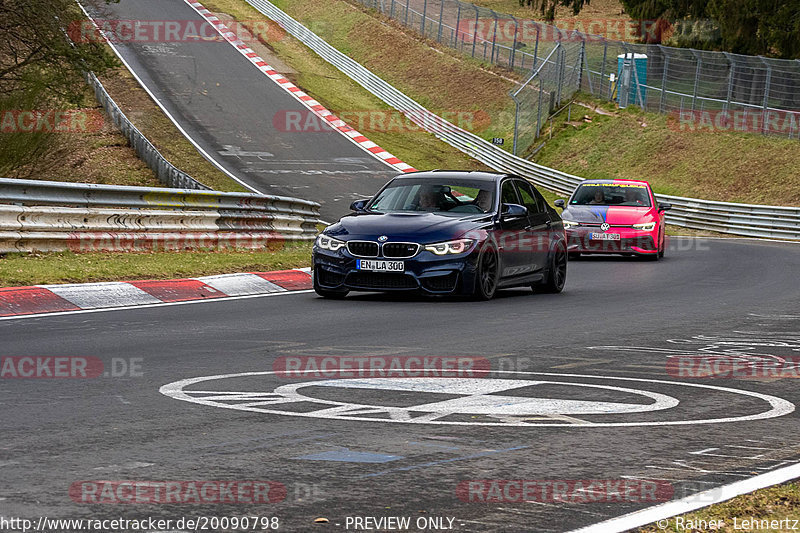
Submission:
[[[311,266],[312,243],[275,251],[240,252],[54,252],[7,254],[0,260],[0,287],[173,279],[235,272],[266,272]]]

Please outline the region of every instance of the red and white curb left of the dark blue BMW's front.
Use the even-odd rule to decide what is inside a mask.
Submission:
[[[188,279],[0,289],[0,317],[111,309],[311,289],[308,268]]]

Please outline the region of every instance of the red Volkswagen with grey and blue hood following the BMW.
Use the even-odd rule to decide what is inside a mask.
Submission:
[[[580,254],[626,254],[664,257],[664,212],[646,181],[587,180],[564,208],[561,218],[567,232],[570,257]]]

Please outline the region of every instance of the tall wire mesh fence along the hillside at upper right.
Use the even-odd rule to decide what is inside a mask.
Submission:
[[[515,151],[578,90],[673,114],[682,129],[800,139],[800,60],[634,44],[459,0],[359,1],[442,45],[524,73],[512,92]]]

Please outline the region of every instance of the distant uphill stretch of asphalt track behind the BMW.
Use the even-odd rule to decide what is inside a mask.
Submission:
[[[215,34],[183,0],[85,7],[98,21],[184,21],[206,24],[203,31]],[[399,173],[333,129],[276,128],[276,115],[308,111],[227,42],[129,40],[115,46],[189,136],[259,192],[313,199],[323,204],[324,220],[335,220]]]

